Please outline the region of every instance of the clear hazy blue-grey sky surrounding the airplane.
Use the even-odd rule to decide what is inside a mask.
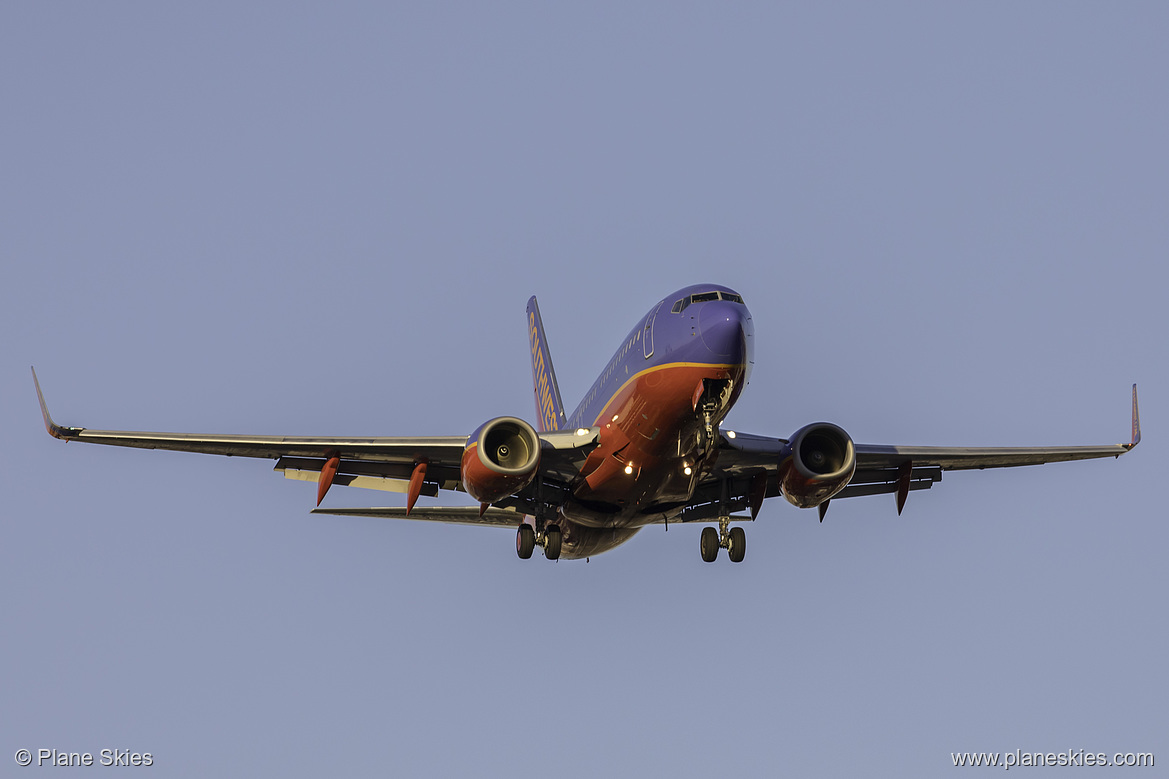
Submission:
[[[21,747],[165,777],[1169,764],[1167,29],[1161,2],[5,4],[0,774]],[[901,517],[774,501],[742,565],[693,526],[552,564],[312,517],[270,461],[65,446],[28,371],[64,425],[466,434],[534,419],[530,295],[575,406],[704,281],[755,319],[729,427],[1119,443],[1135,381],[1146,442],[952,474]]]

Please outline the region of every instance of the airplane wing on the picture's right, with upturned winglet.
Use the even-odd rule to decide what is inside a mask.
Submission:
[[[849,484],[832,499],[859,497],[929,489],[941,481],[942,471],[985,468],[1014,468],[1039,466],[1071,460],[1119,457],[1141,441],[1140,414],[1136,405],[1136,385],[1133,385],[1133,429],[1129,443],[1094,447],[905,447],[873,443],[855,446],[857,467]],[[774,478],[781,460],[789,454],[788,441],[746,433],[724,433],[719,441],[719,457],[714,471],[699,485],[696,504],[719,499],[721,480],[732,482],[731,510],[740,510],[753,503],[750,490],[753,480],[762,474],[766,478],[763,497],[780,495]],[[761,482],[759,482],[761,483]],[[759,494],[756,494],[758,498]],[[758,511],[758,499],[754,502]],[[899,503],[904,497],[899,496]],[[754,512],[753,511],[753,512]],[[692,505],[689,512],[696,517],[708,513],[703,505]],[[685,517],[687,512],[684,512]]]

